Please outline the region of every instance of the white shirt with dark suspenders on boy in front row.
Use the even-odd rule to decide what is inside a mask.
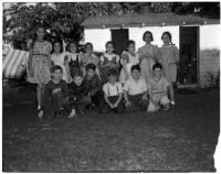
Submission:
[[[123,93],[122,84],[115,83],[114,85],[106,83],[103,86],[103,91],[109,97],[109,96],[118,96]]]

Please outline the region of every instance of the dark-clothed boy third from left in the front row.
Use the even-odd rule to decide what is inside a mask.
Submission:
[[[88,89],[88,96],[92,99],[92,106],[99,107],[102,99],[102,81],[95,73],[96,66],[94,64],[86,65],[85,81]]]

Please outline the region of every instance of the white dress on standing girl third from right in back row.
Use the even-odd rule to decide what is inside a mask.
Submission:
[[[131,72],[130,72],[130,69],[131,69],[131,66],[133,65],[137,65],[137,64],[139,64],[139,54],[138,53],[135,53],[135,55],[131,55],[131,54],[129,54],[128,52],[123,52],[122,53],[122,55],[126,55],[126,57],[128,57],[127,59],[126,59],[126,62],[127,62],[127,64],[126,64],[126,70],[127,70],[127,74],[128,74],[128,77],[126,78],[126,75],[125,75],[125,72],[124,72],[124,69],[122,68],[122,70],[120,70],[120,73],[119,73],[119,81],[122,83],[122,84],[124,84],[128,78],[131,78]],[[123,65],[123,61],[124,61],[125,58],[122,58],[120,59],[120,64]]]

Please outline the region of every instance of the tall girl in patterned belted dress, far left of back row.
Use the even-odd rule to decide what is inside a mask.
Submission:
[[[52,44],[44,40],[45,30],[43,26],[38,26],[29,50],[28,80],[32,84],[36,84],[38,109],[40,109],[44,86],[51,79]]]

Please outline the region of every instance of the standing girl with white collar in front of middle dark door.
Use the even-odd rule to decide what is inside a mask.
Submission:
[[[107,83],[107,73],[110,68],[114,68],[118,73],[119,68],[119,56],[114,53],[114,43],[108,41],[105,45],[106,53],[101,56],[101,72],[102,72],[102,81]]]

